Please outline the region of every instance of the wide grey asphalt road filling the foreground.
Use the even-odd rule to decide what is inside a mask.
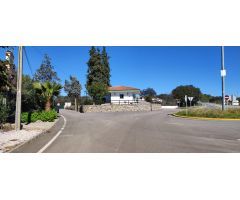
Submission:
[[[62,110],[66,127],[45,152],[240,152],[239,121],[182,119],[169,116],[171,112],[81,114]],[[37,152],[34,147],[39,148],[39,142],[19,152]]]

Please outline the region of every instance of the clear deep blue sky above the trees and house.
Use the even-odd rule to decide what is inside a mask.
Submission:
[[[203,93],[221,95],[220,47],[114,47],[107,46],[111,84],[170,93],[178,85],[192,84]],[[90,47],[26,47],[33,73],[43,54],[52,58],[62,83],[76,76],[85,91]],[[3,50],[0,50],[3,58]],[[17,48],[14,49],[17,64]],[[24,74],[31,75],[24,57]],[[226,93],[240,96],[240,47],[225,47]],[[64,92],[62,93],[64,94]]]

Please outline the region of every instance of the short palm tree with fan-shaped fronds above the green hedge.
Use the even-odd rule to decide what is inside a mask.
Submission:
[[[51,83],[47,81],[45,83],[35,82],[33,87],[35,88],[36,92],[44,98],[45,110],[51,110],[53,97],[60,94],[62,86],[58,83]]]

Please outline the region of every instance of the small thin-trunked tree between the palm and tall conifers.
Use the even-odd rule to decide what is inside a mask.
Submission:
[[[69,97],[73,97],[75,101],[75,111],[78,109],[77,100],[81,95],[82,86],[76,77],[70,76],[70,81],[65,80],[64,85],[65,92],[68,93]]]

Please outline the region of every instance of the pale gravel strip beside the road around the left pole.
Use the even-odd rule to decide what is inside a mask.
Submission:
[[[23,124],[23,129],[20,131],[1,131],[0,130],[0,153],[7,152],[15,148],[16,146],[31,140],[37,135],[50,129],[58,119],[54,122],[41,122]]]

